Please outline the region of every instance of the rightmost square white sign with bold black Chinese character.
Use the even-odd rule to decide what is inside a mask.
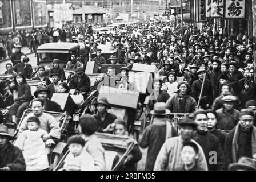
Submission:
[[[245,18],[246,1],[245,0],[226,0],[225,18],[242,19]]]

